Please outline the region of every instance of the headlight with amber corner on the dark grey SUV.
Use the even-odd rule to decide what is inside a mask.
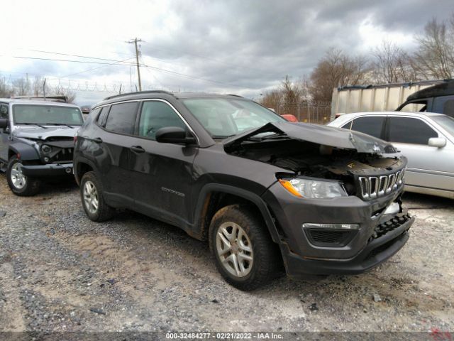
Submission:
[[[347,197],[342,183],[330,180],[314,180],[310,178],[279,179],[284,188],[297,197],[311,199],[332,199],[333,197]]]

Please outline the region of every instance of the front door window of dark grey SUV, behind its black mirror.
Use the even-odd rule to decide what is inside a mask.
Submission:
[[[156,131],[167,126],[178,126],[186,129],[186,124],[165,102],[147,101],[143,102],[140,113],[139,136],[148,139],[156,139]]]

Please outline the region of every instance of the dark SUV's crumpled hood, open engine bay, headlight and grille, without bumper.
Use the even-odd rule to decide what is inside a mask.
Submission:
[[[404,185],[406,158],[380,139],[344,129],[270,123],[229,139],[224,148],[282,168],[277,179],[300,197],[371,200]]]

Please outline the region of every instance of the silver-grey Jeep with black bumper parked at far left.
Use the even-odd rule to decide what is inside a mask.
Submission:
[[[14,194],[35,195],[43,178],[70,178],[74,135],[82,123],[74,104],[0,99],[0,170]]]

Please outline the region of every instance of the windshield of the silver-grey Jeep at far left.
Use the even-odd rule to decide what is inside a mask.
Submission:
[[[84,121],[77,107],[52,105],[15,104],[13,105],[14,124],[70,125],[81,126]]]

